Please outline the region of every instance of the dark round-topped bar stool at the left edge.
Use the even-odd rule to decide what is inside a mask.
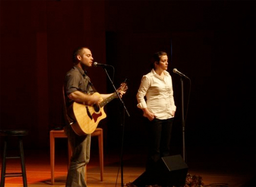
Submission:
[[[1,136],[5,136],[4,140],[4,153],[3,153],[3,162],[2,162],[2,172],[1,172],[1,182],[0,186],[5,186],[5,177],[23,177],[23,186],[27,187],[27,175],[25,169],[25,161],[24,161],[24,150],[23,150],[23,142],[22,137],[28,134],[27,130],[0,130]],[[7,156],[7,142],[8,138],[12,136],[17,136],[19,139],[19,156]],[[20,163],[22,166],[22,172],[19,173],[6,173],[6,159],[9,158],[20,158]]]

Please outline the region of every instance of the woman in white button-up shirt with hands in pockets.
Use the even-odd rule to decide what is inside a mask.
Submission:
[[[172,77],[166,71],[165,52],[153,56],[152,71],[142,77],[137,93],[138,107],[148,119],[149,152],[146,171],[152,171],[156,162],[169,155],[170,134],[176,111]],[[146,100],[145,97],[146,96]]]

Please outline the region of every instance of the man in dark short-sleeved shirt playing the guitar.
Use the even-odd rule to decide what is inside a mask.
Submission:
[[[86,181],[84,176],[84,166],[86,166],[90,160],[90,146],[91,146],[91,129],[90,133],[83,131],[84,128],[78,128],[83,119],[80,117],[81,112],[74,115],[74,106],[82,106],[86,111],[83,112],[89,115],[89,120],[85,122],[94,122],[97,124],[101,120],[100,115],[103,115],[103,107],[100,111],[93,111],[95,106],[100,106],[100,103],[105,99],[114,97],[115,93],[110,94],[99,94],[93,87],[90,78],[87,76],[86,69],[91,67],[93,64],[93,56],[91,51],[86,47],[78,48],[73,53],[74,66],[66,74],[65,84],[63,91],[65,93],[65,117],[67,125],[64,130],[68,136],[69,143],[72,147],[73,155],[70,160],[70,168],[68,171],[66,187],[86,187]],[[97,93],[97,94],[96,94]],[[125,93],[125,90],[118,89],[120,97]],[[97,113],[97,114],[95,114]],[[105,118],[105,115],[102,117]],[[86,123],[87,124],[87,123]],[[95,127],[95,129],[96,129]],[[77,130],[78,129],[78,130]],[[85,128],[87,129],[87,128]],[[94,129],[94,128],[93,128]],[[94,130],[95,130],[94,129]],[[84,133],[83,133],[84,132]]]

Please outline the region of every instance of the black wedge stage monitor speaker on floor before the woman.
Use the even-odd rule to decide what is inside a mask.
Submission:
[[[144,172],[133,183],[138,186],[158,184],[166,186],[184,186],[188,167],[181,155],[162,157],[154,172]]]

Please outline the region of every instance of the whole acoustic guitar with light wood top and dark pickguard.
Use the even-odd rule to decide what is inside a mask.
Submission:
[[[127,89],[127,83],[123,82],[117,89],[117,92],[120,90],[126,91]],[[93,95],[100,96],[98,92],[93,93]],[[116,92],[104,100],[101,98],[102,101],[98,104],[94,104],[93,106],[87,106],[81,103],[74,102],[72,106],[72,117],[75,122],[71,124],[71,127],[73,128],[75,133],[78,135],[93,133],[97,128],[99,122],[102,119],[106,118],[104,106],[110,103],[115,98],[118,98]]]

